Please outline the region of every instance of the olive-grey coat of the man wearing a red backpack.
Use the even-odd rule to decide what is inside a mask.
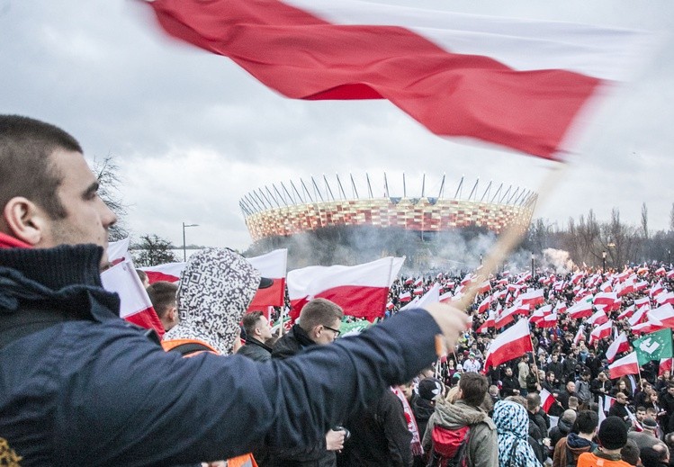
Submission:
[[[433,427],[436,425],[449,429],[470,426],[468,465],[470,467],[494,467],[498,465],[499,446],[496,426],[484,410],[472,407],[463,400],[457,400],[455,404],[450,404],[444,399],[436,400],[436,411],[428,419],[422,442],[424,452],[430,452],[432,448],[431,434]]]

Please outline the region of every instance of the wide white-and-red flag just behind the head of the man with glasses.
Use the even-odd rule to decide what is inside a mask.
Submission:
[[[382,317],[389,288],[405,258],[384,257],[364,265],[308,266],[288,273],[292,319],[310,300],[334,301],[346,315],[373,321]]]

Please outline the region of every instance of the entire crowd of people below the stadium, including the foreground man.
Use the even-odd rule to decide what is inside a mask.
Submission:
[[[0,116],[0,179],[4,465],[670,465],[666,359],[616,378],[622,354],[607,354],[618,332],[667,328],[644,307],[670,305],[671,266],[497,274],[468,315],[404,305],[434,285],[456,300],[472,274],[403,277],[382,322],[341,338],[352,318],[323,299],[274,335],[263,313],[247,313],[260,274],[206,248],[179,285],[148,285],[159,342],[103,290],[115,217],[76,140]],[[612,291],[591,317],[567,312]],[[553,321],[534,319],[539,310]],[[596,337],[595,310],[615,332]],[[494,339],[523,319],[532,351],[485,367]]]

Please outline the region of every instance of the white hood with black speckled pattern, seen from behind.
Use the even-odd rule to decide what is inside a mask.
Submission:
[[[187,260],[176,294],[180,324],[164,339],[199,339],[231,354],[238,323],[255,296],[260,273],[227,248],[205,248]]]

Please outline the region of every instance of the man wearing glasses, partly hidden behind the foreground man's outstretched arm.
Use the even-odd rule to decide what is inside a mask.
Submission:
[[[311,346],[326,346],[339,337],[344,310],[336,303],[314,299],[301,309],[299,322],[283,335],[272,349],[272,359],[284,359],[299,354]],[[325,443],[310,450],[257,453],[261,467],[337,465],[335,451],[344,446],[346,431],[329,430]]]

